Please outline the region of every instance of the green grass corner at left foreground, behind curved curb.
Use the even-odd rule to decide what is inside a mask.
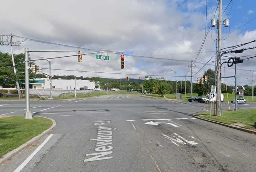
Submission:
[[[0,118],[0,157],[18,148],[52,126],[42,117],[25,120],[23,116]]]

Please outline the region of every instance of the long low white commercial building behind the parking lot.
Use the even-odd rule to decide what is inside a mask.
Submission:
[[[46,78],[36,79],[37,82],[32,83],[32,89],[50,89],[50,81],[47,81]],[[62,89],[62,90],[74,90],[76,81],[76,89],[79,90],[81,87],[84,89],[94,89],[100,88],[100,85],[88,80],[81,79],[52,79],[53,89]]]

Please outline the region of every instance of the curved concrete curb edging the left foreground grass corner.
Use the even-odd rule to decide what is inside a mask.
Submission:
[[[43,116],[41,116],[43,117]],[[47,118],[47,117],[43,117],[43,118]],[[53,122],[52,126],[50,128],[48,128],[46,131],[42,132],[41,134],[37,135],[36,137],[28,140],[26,143],[22,144],[21,146],[19,146],[18,148],[8,152],[7,154],[5,154],[4,156],[2,156],[0,158],[0,164],[2,164],[3,162],[7,161],[8,159],[10,159],[12,156],[14,156],[15,154],[17,154],[18,152],[20,152],[21,150],[25,149],[28,145],[30,145],[31,143],[33,143],[34,141],[38,140],[39,138],[41,138],[44,134],[46,134],[47,132],[49,132],[50,130],[52,130],[55,126],[56,126],[56,122],[55,120],[51,119],[51,118],[47,118],[49,120],[51,120]]]

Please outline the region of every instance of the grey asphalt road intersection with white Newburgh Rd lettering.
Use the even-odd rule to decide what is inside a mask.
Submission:
[[[256,171],[255,135],[193,118],[201,103],[105,95],[32,101],[31,107],[57,126],[2,164],[1,172]],[[0,101],[0,115],[22,115],[23,109],[24,101]]]

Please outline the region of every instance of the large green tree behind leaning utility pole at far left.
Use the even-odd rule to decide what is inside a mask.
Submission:
[[[25,83],[25,55],[14,54],[14,61],[17,72],[16,76],[13,70],[11,55],[0,52],[0,85],[3,87],[14,87],[16,85],[16,79],[20,84]],[[32,65],[35,65],[35,63],[31,62],[30,66]],[[29,77],[30,79],[35,78],[35,74],[32,73],[32,69]]]

